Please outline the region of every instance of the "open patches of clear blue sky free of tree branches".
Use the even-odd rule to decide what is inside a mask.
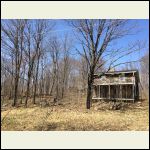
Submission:
[[[72,39],[73,37],[73,29],[67,25],[67,23],[64,20],[55,20],[56,26],[55,26],[55,32],[53,32],[55,35],[57,34],[59,38],[63,38],[64,34],[68,33]],[[117,49],[119,47],[123,47],[126,49],[128,47],[128,44],[134,43],[135,41],[145,41],[147,43],[147,47],[149,46],[149,20],[129,20],[129,25],[136,24],[136,28],[133,30],[133,35],[125,36],[117,41],[115,41],[112,44],[113,49]],[[75,47],[82,49],[79,44],[75,44]],[[130,60],[138,60],[141,58],[147,51],[148,48],[142,49],[141,51],[132,53],[126,57],[123,57],[121,60],[118,60],[116,63],[120,62],[126,62]],[[75,54],[75,48],[72,49],[72,52]],[[78,56],[76,55],[76,58]]]

